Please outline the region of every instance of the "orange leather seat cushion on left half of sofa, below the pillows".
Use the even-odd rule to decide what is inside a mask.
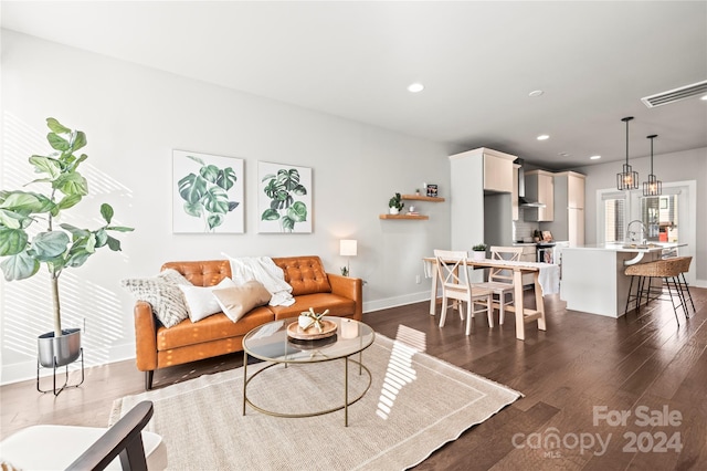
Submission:
[[[239,322],[231,321],[223,313],[211,315],[196,324],[186,320],[171,328],[159,327],[157,329],[157,349],[158,352],[163,352],[188,345],[243,336],[258,325],[274,320],[275,316],[267,306],[255,307]]]

